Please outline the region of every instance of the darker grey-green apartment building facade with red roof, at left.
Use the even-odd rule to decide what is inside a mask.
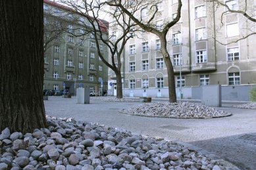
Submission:
[[[57,36],[55,33],[56,37],[47,45],[44,56],[44,89],[66,89],[72,95],[75,95],[78,87],[89,88],[90,93],[102,94],[107,91],[108,68],[97,54],[93,34],[85,33],[83,24],[86,23],[86,18],[53,1],[44,0],[43,9],[45,29],[50,22],[60,24],[58,20],[62,20],[65,23],[62,27],[66,27],[65,32],[61,31]],[[107,26],[103,29],[108,37]],[[52,34],[54,35],[50,32],[49,36]],[[100,51],[108,58],[108,51],[103,43],[100,44]]]

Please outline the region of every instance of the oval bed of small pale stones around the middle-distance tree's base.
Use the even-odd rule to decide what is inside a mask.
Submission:
[[[122,110],[123,113],[138,116],[211,118],[230,116],[230,113],[190,102],[153,102]]]

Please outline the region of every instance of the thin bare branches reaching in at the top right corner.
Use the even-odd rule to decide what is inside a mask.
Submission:
[[[232,1],[220,1],[220,0],[205,0],[205,2],[208,3],[208,5],[213,5],[215,12],[221,11],[220,16],[220,23],[218,28],[215,28],[214,32],[218,32],[222,27],[225,26],[225,17],[226,14],[237,14],[238,17],[240,17],[240,22],[244,22],[241,25],[245,26],[244,28],[241,28],[240,30],[245,30],[244,32],[240,32],[240,37],[229,41],[229,42],[223,42],[218,39],[218,36],[212,36],[215,41],[220,43],[221,45],[229,45],[232,43],[237,43],[240,40],[246,39],[247,37],[250,37],[251,35],[255,35],[255,22],[256,22],[256,16],[255,16],[255,6],[254,1],[235,1],[232,3]],[[224,8],[223,8],[224,7]],[[223,9],[225,9],[223,11]],[[222,37],[222,35],[220,35]]]

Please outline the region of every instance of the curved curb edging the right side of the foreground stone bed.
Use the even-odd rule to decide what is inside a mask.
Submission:
[[[176,142],[177,144],[181,144],[183,146],[186,146],[187,148],[191,148],[192,150],[195,150],[197,152],[201,152],[201,154],[207,156],[207,158],[210,158],[213,161],[217,161],[217,163],[220,163],[220,165],[224,165],[224,167],[226,167],[226,169],[229,170],[241,170],[239,169],[236,165],[234,165],[233,163],[230,163],[229,161],[225,161],[224,159],[219,158],[217,155],[204,150],[202,148],[199,148],[197,146],[193,146],[192,144],[186,143],[186,142],[181,142],[179,140],[173,141]]]

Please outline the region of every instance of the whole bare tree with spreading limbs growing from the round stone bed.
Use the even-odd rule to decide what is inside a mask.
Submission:
[[[156,23],[155,20],[157,16],[161,13],[159,11],[159,7],[161,5],[161,1],[153,1],[153,0],[113,0],[106,2],[107,5],[111,7],[118,7],[120,11],[127,14],[127,18],[132,19],[140,28],[145,30],[146,32],[153,33],[157,35],[161,41],[161,53],[163,54],[163,58],[165,60],[165,65],[168,73],[168,95],[170,102],[176,102],[176,90],[175,90],[175,81],[174,81],[174,70],[172,66],[172,62],[170,60],[170,54],[167,51],[167,40],[166,35],[170,28],[174,26],[180,20],[182,1],[178,0],[178,9],[175,18],[165,18],[163,23]],[[149,9],[149,19],[143,20],[141,18],[141,11],[143,9]]]

